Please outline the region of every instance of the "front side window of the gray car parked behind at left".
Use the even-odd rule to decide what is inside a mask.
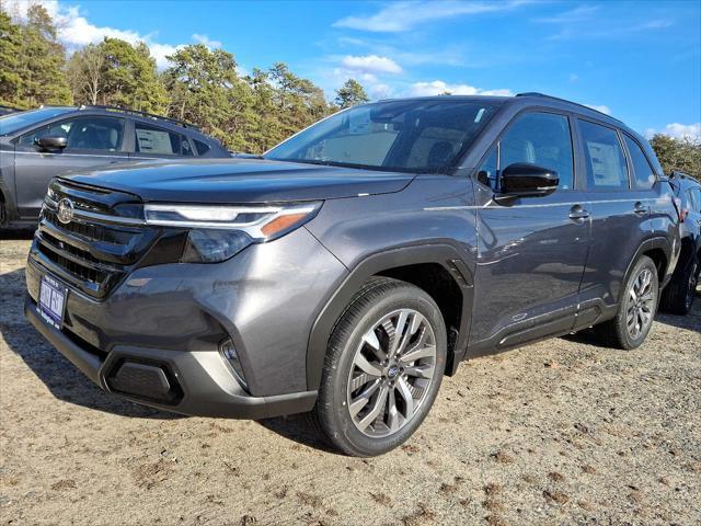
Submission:
[[[19,145],[33,146],[41,137],[66,137],[67,150],[120,151],[124,119],[94,116],[60,121],[23,135]]]

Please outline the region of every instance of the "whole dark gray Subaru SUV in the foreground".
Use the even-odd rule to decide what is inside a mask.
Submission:
[[[641,345],[678,225],[648,144],[608,115],[541,94],[383,101],[257,159],[54,180],[25,313],[105,390],[311,411],[371,456],[466,358],[591,325]]]

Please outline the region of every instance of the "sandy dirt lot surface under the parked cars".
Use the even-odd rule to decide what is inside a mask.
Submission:
[[[359,460],[299,418],[102,392],[24,320],[27,248],[0,241],[2,524],[701,523],[699,307],[631,353],[575,336],[462,364],[410,443]]]

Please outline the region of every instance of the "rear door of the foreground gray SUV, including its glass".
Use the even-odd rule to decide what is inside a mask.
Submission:
[[[662,183],[635,139],[599,122],[577,121],[593,214],[582,306],[594,317],[579,329],[616,309],[627,271],[655,230]]]

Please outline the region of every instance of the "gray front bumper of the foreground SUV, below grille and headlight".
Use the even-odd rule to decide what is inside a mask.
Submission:
[[[61,330],[36,311],[41,277],[53,274],[34,255],[25,316],[101,388],[202,416],[262,419],[313,408],[309,333],[347,271],[306,229],[219,264],[137,268],[104,300],[69,288]],[[227,338],[248,389],[218,351]]]

